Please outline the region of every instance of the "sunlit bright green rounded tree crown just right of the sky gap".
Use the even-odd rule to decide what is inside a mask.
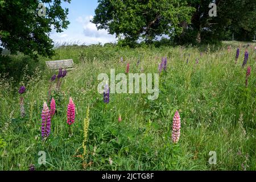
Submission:
[[[163,34],[180,35],[181,23],[190,23],[194,12],[184,0],[99,0],[92,22],[117,37],[150,42]]]

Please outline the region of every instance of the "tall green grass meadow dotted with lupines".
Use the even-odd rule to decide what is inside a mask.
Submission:
[[[75,68],[61,78],[59,91],[56,81],[50,81],[57,71],[49,71],[44,63],[49,59],[39,57],[26,65],[26,57],[14,56],[23,60],[10,72],[14,78],[0,77],[0,170],[255,171],[256,44],[250,44],[245,68],[246,43],[240,42],[199,48],[61,46],[51,60],[73,59]],[[237,47],[240,56],[235,64]],[[160,73],[157,100],[148,100],[148,94],[110,93],[109,103],[104,103],[97,92],[100,73],[125,73],[127,63],[129,73],[158,73],[165,56],[167,70]],[[26,87],[23,94],[18,93],[20,86]],[[43,140],[43,104],[46,101],[49,107],[52,97],[56,113],[51,133]],[[67,124],[69,97],[76,107],[72,135]],[[179,142],[174,143],[176,110],[181,129]],[[45,165],[38,163],[40,151],[46,152]],[[210,151],[216,152],[216,164],[209,164]]]

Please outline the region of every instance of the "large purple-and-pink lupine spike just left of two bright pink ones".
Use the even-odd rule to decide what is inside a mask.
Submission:
[[[42,130],[42,137],[44,139],[49,137],[49,134],[51,132],[51,114],[46,102],[44,102],[41,117],[42,117],[41,130]]]

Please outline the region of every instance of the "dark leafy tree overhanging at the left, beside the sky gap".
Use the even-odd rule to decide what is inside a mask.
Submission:
[[[49,38],[52,28],[56,32],[67,28],[68,9],[61,0],[0,0],[0,45],[12,54],[53,55],[53,42]],[[71,0],[63,0],[70,3]],[[45,16],[40,16],[46,6]],[[44,14],[44,13],[43,13]]]

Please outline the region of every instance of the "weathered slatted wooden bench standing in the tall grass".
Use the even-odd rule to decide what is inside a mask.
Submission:
[[[49,69],[63,68],[63,69],[71,70],[74,67],[74,62],[72,59],[46,61],[46,65]]]

